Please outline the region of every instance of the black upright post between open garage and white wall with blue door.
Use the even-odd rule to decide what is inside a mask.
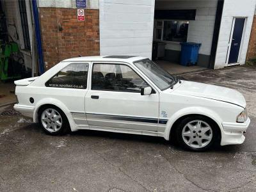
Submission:
[[[214,31],[213,31],[213,37],[212,37],[210,65],[209,65],[209,68],[212,68],[212,69],[214,69],[214,65],[215,65],[217,46],[218,46],[218,40],[219,40],[219,35],[220,35],[220,24],[221,24],[221,18],[222,18],[222,13],[223,13],[223,5],[224,5],[224,0],[218,0],[215,24],[214,24]]]

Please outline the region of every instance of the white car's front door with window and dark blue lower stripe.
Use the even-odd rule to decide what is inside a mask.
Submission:
[[[150,85],[129,64],[93,63],[91,76],[85,97],[90,126],[157,131],[159,93],[141,95]]]

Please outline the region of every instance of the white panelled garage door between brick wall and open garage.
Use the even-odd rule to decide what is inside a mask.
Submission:
[[[100,0],[100,55],[151,58],[154,0]]]

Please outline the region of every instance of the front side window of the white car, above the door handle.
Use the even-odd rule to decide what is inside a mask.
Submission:
[[[92,90],[141,92],[148,84],[127,65],[94,64]]]

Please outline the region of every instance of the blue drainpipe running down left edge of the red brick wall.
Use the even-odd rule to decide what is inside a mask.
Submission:
[[[32,0],[33,6],[33,15],[34,15],[34,22],[35,22],[35,36],[36,36],[36,47],[38,52],[38,69],[39,74],[44,74],[44,57],[43,57],[43,50],[42,50],[42,38],[41,38],[41,31],[40,31],[40,22],[38,17],[38,9],[36,0]]]

